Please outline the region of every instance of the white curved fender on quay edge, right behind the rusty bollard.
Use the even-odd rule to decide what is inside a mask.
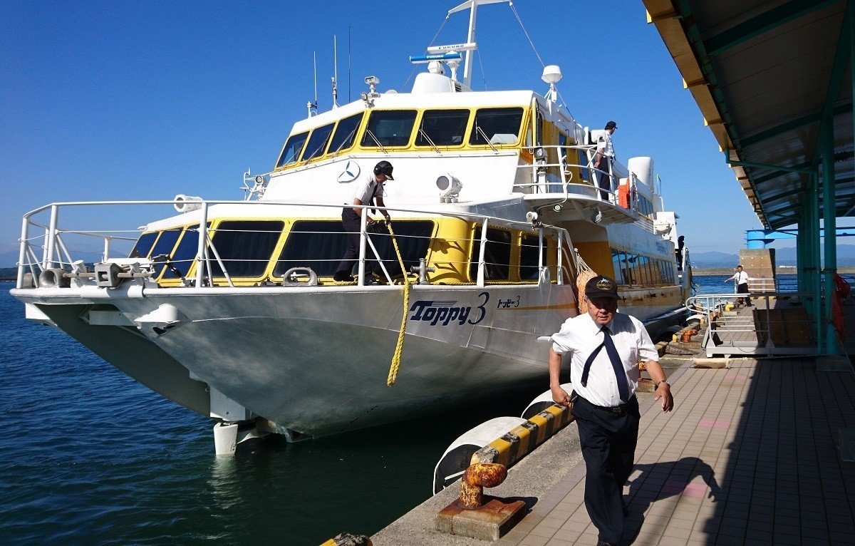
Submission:
[[[476,451],[525,422],[525,419],[516,417],[492,418],[464,432],[457,440],[451,442],[433,469],[433,495],[463,476]]]

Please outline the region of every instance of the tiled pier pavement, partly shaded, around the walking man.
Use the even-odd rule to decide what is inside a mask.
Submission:
[[[811,359],[735,363],[683,367],[674,412],[642,407],[622,543],[855,544],[855,463],[835,448],[855,426],[852,373]],[[596,544],[584,475],[577,466],[496,544]]]

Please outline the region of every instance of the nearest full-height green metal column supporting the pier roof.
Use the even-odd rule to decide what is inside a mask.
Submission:
[[[823,120],[822,133],[819,138],[823,144],[823,228],[824,240],[824,267],[823,286],[825,298],[823,298],[823,318],[825,326],[825,351],[824,354],[839,354],[840,347],[837,344],[837,330],[834,329],[833,303],[834,298],[834,274],[837,272],[837,207],[835,205],[834,192],[834,118],[827,117]]]

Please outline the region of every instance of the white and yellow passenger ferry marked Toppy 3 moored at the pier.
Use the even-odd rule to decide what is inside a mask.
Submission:
[[[274,169],[247,173],[243,200],[28,212],[12,294],[28,318],[214,418],[221,453],[254,434],[295,441],[545,384],[537,339],[579,312],[576,284],[591,270],[616,278],[621,311],[656,337],[689,281],[652,159],[613,163],[602,193],[592,163],[602,132],[559,104],[557,66],[544,70],[543,95],[471,91],[475,11],[494,1],[451,10],[469,9],[469,39],[413,58],[428,70],[410,92],[379,92],[369,77],[356,101],[310,110]],[[392,231],[363,214],[357,280],[336,282],[342,207],[380,160],[394,167]],[[69,220],[85,209],[91,226],[109,217],[100,208],[140,205],[178,214],[139,230]],[[91,260],[73,240],[90,252],[80,241],[103,240],[103,250]],[[364,274],[372,262],[380,285]],[[387,386],[395,353],[402,364]]]

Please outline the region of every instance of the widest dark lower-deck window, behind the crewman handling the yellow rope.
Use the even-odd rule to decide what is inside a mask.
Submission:
[[[433,234],[433,222],[427,220],[404,220],[395,222],[395,235],[404,267],[418,265],[419,258],[425,258]],[[398,256],[392,247],[392,240],[386,234],[369,234],[371,242],[377,247],[377,252],[392,276],[401,273]],[[347,249],[348,236],[340,222],[301,220],[295,222],[288,234],[285,246],[282,248],[279,260],[274,268],[274,276],[282,276],[292,267],[309,267],[317,276],[333,276],[339,268],[339,261]],[[374,252],[369,246],[367,256],[374,258]],[[372,270],[380,273],[376,260]]]

